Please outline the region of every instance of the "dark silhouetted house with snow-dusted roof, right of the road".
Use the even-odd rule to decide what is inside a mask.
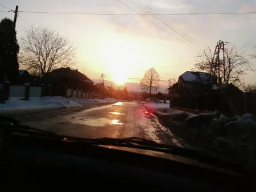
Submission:
[[[169,88],[171,105],[241,113],[243,92],[234,84],[218,84],[217,79],[205,72],[184,72],[179,76],[178,82]]]

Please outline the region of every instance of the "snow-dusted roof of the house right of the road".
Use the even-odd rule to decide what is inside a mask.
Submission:
[[[184,74],[180,76],[182,81],[185,82],[197,82],[197,83],[207,83],[208,79],[213,80],[213,77],[206,72],[199,72],[199,71],[186,71]]]

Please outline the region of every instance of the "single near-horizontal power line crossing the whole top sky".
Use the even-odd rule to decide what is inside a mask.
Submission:
[[[12,11],[12,10],[10,10]],[[45,14],[65,14],[65,15],[237,15],[255,14],[256,12],[220,12],[220,13],[74,13],[74,12],[32,12],[20,11],[21,13],[45,13]]]

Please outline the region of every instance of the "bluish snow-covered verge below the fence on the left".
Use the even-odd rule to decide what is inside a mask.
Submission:
[[[116,102],[116,99],[79,99],[70,97],[34,97],[21,100],[21,97],[10,97],[5,104],[0,104],[0,115],[26,116],[60,109],[77,109],[99,106]]]

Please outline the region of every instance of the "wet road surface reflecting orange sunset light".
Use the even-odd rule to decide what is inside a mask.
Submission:
[[[148,115],[140,104],[134,102],[117,102],[99,108],[33,118],[20,123],[44,131],[80,138],[136,136],[159,143],[177,144],[164,127],[161,127],[156,117]]]

